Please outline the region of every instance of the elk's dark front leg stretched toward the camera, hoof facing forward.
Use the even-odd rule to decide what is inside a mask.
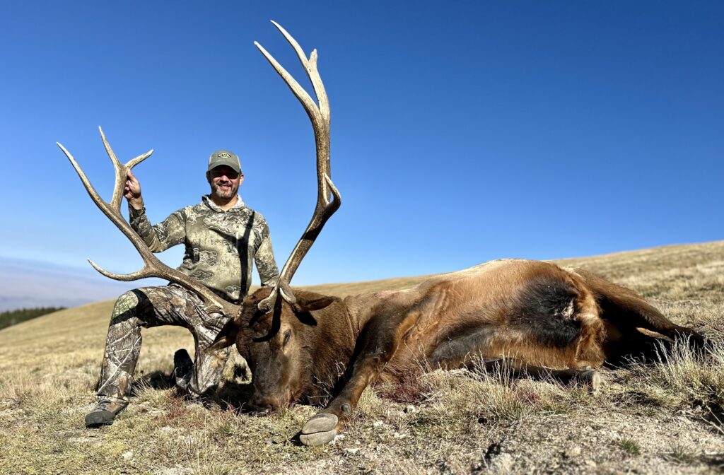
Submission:
[[[358,339],[357,357],[344,387],[324,411],[304,424],[299,436],[304,445],[321,445],[334,439],[337,429],[357,407],[363,390],[382,373],[419,315],[419,312],[397,315],[385,312],[370,319]]]

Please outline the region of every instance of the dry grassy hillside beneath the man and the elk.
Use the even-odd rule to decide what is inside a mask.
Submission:
[[[471,263],[473,264],[473,263]],[[697,360],[604,370],[597,395],[505,374],[437,371],[363,394],[332,445],[290,442],[315,408],[257,418],[183,401],[167,375],[183,329],[144,330],[135,398],[86,430],[112,301],[0,331],[1,474],[718,473],[724,468],[724,242],[560,261],[649,298],[714,342]],[[450,269],[456,270],[456,269]],[[349,295],[424,277],[308,287]]]

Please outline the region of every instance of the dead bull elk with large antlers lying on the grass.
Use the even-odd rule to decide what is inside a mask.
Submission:
[[[106,272],[122,280],[162,277],[198,293],[209,309],[229,317],[214,345],[236,345],[252,371],[249,406],[268,412],[296,402],[332,398],[301,429],[305,445],[334,439],[377,381],[396,381],[421,369],[453,369],[505,362],[531,377],[550,375],[597,390],[597,368],[645,351],[657,338],[645,329],[700,347],[694,329],[669,321],[633,291],[581,269],[542,261],[507,259],[442,274],[416,287],[346,298],[292,290],[290,281],[322,227],[340,207],[329,167],[329,101],[317,70],[316,50],[306,57],[298,43],[274,22],[297,52],[318,104],[258,43],[258,49],[299,99],[311,119],[316,141],[317,202],[308,227],[282,268],[274,287],[248,295],[234,306],[180,272],[161,264],[122,218],[119,210],[126,170],[148,154],[122,165],[101,131],[116,169],[110,203],[70,159],[96,205],[132,241],[144,267],[133,274]]]

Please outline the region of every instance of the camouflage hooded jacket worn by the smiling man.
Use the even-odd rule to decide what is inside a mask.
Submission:
[[[203,196],[201,203],[174,212],[151,226],[146,208],[128,206],[131,227],[154,253],[183,243],[186,251],[179,270],[202,282],[222,298],[242,300],[251,286],[252,261],[261,285],[279,277],[271,250],[266,219],[239,201],[224,211]]]

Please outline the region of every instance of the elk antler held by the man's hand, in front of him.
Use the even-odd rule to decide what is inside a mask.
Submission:
[[[56,143],[65,156],[68,157],[70,163],[73,165],[73,168],[75,168],[75,172],[77,172],[80,177],[80,181],[83,182],[83,186],[85,186],[85,190],[88,191],[88,195],[90,195],[90,199],[93,200],[93,203],[96,203],[96,206],[98,206],[98,208],[104,212],[111,222],[113,222],[113,224],[115,224],[118,229],[126,235],[126,237],[135,246],[136,250],[138,250],[141,258],[143,258],[143,269],[133,272],[132,274],[114,274],[101,269],[101,267],[97,266],[95,262],[88,259],[90,265],[106,277],[126,282],[130,280],[143,279],[144,277],[161,277],[162,279],[167,279],[186,287],[193,293],[198,294],[199,297],[201,297],[201,300],[203,300],[203,303],[206,305],[206,311],[218,311],[231,318],[235,317],[241,310],[240,306],[227,302],[215,293],[211,292],[209,287],[202,285],[200,282],[193,280],[186,274],[182,274],[182,272],[172,269],[163,262],[159,261],[159,258],[153,256],[151,249],[149,249],[146,243],[143,242],[143,239],[141,239],[133,228],[126,222],[126,220],[123,219],[121,214],[121,198],[123,196],[123,188],[125,187],[128,170],[135,167],[135,165],[138,165],[141,161],[146,160],[149,156],[151,156],[151,154],[153,154],[153,150],[146,152],[146,154],[137,156],[127,164],[121,164],[116,158],[116,154],[114,154],[113,150],[111,150],[111,146],[109,145],[108,140],[106,140],[106,135],[104,135],[103,129],[98,127],[98,130],[101,131],[103,144],[106,146],[106,152],[113,162],[113,167],[116,171],[116,182],[113,187],[113,196],[110,203],[106,203],[106,201],[103,201],[101,196],[98,195],[98,192],[96,192],[96,189],[90,184],[88,177],[85,176],[85,173],[83,173],[83,170],[80,169],[70,152],[67,151],[60,143]]]

